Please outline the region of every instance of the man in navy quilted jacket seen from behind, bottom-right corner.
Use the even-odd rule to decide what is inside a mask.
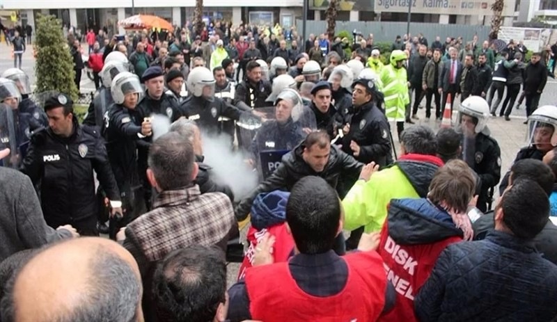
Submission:
[[[525,198],[527,196],[527,198]],[[532,241],[547,224],[547,193],[517,179],[494,211],[484,241],[449,245],[418,292],[419,321],[551,321],[557,316],[557,266]]]

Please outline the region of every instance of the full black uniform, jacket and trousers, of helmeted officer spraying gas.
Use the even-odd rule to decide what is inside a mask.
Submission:
[[[143,138],[139,114],[121,104],[113,104],[107,113],[104,138],[114,178],[120,190],[125,216],[118,223],[111,221],[110,235],[116,237],[119,227],[146,212],[143,187],[137,165],[137,142]]]

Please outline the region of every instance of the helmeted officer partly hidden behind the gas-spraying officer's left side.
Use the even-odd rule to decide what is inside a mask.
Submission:
[[[118,56],[116,57],[118,58]],[[99,129],[102,129],[104,126],[104,114],[113,103],[112,95],[110,94],[112,79],[121,72],[127,72],[127,70],[128,68],[123,61],[111,60],[104,64],[100,71],[102,87],[95,92],[95,96],[91,104],[89,104],[83,124],[97,126]]]

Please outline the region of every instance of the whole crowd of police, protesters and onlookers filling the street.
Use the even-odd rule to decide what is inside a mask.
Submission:
[[[383,62],[372,35],[346,57],[324,34],[287,48],[297,35],[280,26],[204,32],[101,46],[90,31],[102,67],[82,122],[65,93],[32,100],[29,77],[3,71],[1,321],[557,319],[542,54],[418,35]],[[508,116],[517,84],[528,140],[501,179],[489,119],[505,88]],[[405,128],[424,96],[436,120]],[[454,126],[436,133],[441,116]],[[253,191],[207,166],[214,136],[258,172]]]

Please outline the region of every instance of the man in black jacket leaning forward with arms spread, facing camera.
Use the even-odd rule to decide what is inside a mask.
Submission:
[[[331,145],[327,132],[312,132],[304,142],[285,154],[281,165],[273,174],[238,204],[236,218],[244,220],[248,216],[253,200],[260,193],[278,189],[290,191],[299,179],[308,175],[322,177],[336,188],[341,176],[357,176],[362,167],[363,163],[359,163],[336,145]]]

